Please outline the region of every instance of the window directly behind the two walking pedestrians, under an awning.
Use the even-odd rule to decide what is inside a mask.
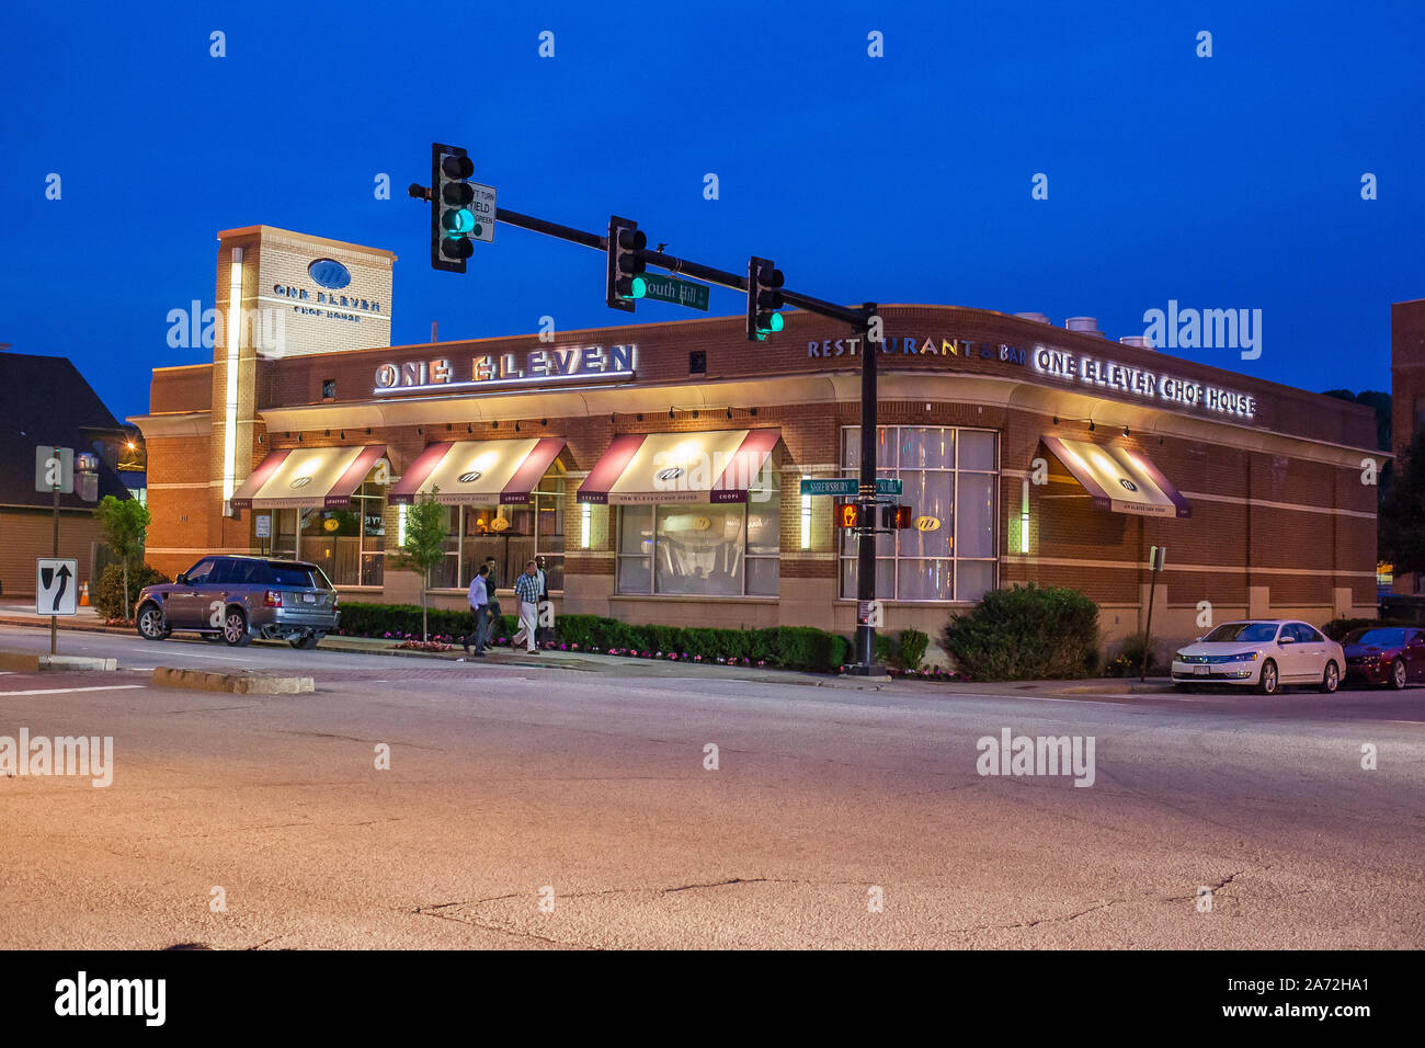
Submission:
[[[484,558],[494,558],[500,589],[536,558],[544,558],[544,585],[564,589],[564,478],[546,473],[532,502],[500,506],[450,506],[446,559],[430,572],[430,585],[467,587]]]

